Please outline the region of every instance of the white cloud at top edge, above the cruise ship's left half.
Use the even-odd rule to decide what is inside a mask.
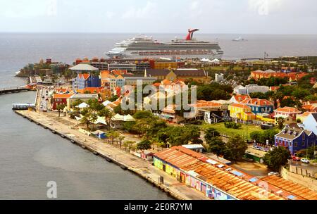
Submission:
[[[152,1],[147,1],[147,4],[141,8],[135,8],[132,6],[128,11],[123,13],[122,18],[130,19],[130,18],[149,18],[155,12],[157,8],[156,3]]]

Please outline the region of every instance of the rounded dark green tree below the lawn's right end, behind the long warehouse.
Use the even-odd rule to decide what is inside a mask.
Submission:
[[[237,134],[229,139],[226,147],[225,158],[236,161],[243,158],[248,145],[247,142],[244,141],[239,134]]]

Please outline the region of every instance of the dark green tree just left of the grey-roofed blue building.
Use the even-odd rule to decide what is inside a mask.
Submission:
[[[263,157],[264,164],[268,165],[268,169],[278,172],[282,165],[287,163],[290,158],[290,151],[283,146],[275,147],[273,151],[269,151]]]

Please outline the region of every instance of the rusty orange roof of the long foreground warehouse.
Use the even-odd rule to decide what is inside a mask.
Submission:
[[[174,146],[170,149],[160,151],[154,156],[161,160],[180,168],[185,172],[195,172],[196,177],[200,180],[212,184],[214,187],[221,189],[228,194],[235,196],[242,200],[282,200],[290,196],[290,192],[283,191],[278,194],[280,188],[272,184],[268,184],[268,192],[264,198],[261,197],[261,187],[259,187],[262,180],[254,178],[254,176],[231,168],[228,165],[219,163],[216,160],[207,158],[201,153],[197,153],[186,149],[183,146]],[[212,162],[212,163],[211,163]],[[221,165],[221,166],[220,166]],[[230,171],[228,169],[231,169]],[[241,174],[241,175],[237,175]],[[295,196],[295,200],[303,199],[300,196]]]

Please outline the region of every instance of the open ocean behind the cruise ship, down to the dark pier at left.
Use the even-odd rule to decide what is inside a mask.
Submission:
[[[136,34],[0,34],[0,88],[21,84],[16,71],[40,58],[73,63],[75,58],[105,57],[116,42]],[[147,34],[162,42],[185,34]],[[195,34],[195,38],[217,41],[223,58],[240,59],[269,56],[317,56],[317,35]],[[232,42],[243,37],[247,42]]]

